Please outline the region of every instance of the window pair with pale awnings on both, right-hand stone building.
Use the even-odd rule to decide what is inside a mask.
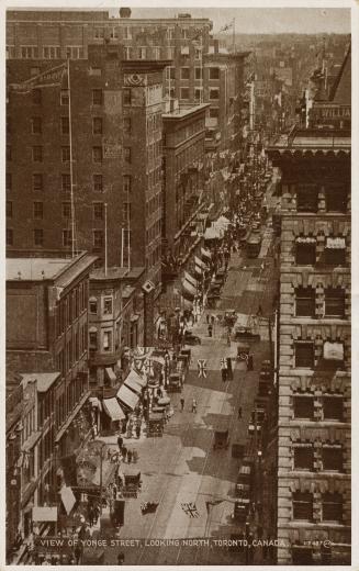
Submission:
[[[347,264],[346,239],[339,236],[327,237],[324,251],[319,255],[316,238],[298,238],[294,256],[298,266],[315,266],[321,262],[328,266],[345,266]]]

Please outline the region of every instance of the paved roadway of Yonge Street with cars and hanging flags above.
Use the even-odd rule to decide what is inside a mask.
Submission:
[[[271,258],[272,232],[267,228],[260,257],[247,260],[233,254],[228,278],[218,307],[212,315],[233,307],[244,316],[256,314],[259,304],[263,315],[271,312],[273,296]],[[263,267],[262,262],[266,261]],[[205,313],[195,324],[193,333],[202,339],[192,347],[192,362],[182,395],[184,411],[180,411],[180,394],[172,394],[175,414],[166,426],[162,438],[134,440],[138,450],[138,470],[143,490],[137,499],[126,501],[125,525],[119,539],[141,539],[141,547],[108,549],[109,564],[116,562],[119,550],[125,553],[126,564],[233,564],[244,560],[244,553],[227,547],[180,545],[150,546],[155,539],[229,539],[240,528],[232,519],[234,489],[240,460],[232,458],[232,444],[246,444],[247,428],[258,383],[258,368],[269,358],[268,322],[259,320],[261,340],[253,344],[255,370],[247,372],[242,361],[235,362],[233,381],[223,382],[220,363],[222,357],[236,356],[236,343],[227,346],[224,328],[216,322],[214,336],[210,338]],[[197,360],[206,360],[206,378],[198,377]],[[192,399],[198,401],[197,413],[191,412]],[[238,419],[238,407],[243,418]],[[215,428],[229,429],[227,450],[213,450]],[[115,444],[115,438],[110,438]],[[132,444],[131,444],[132,446]],[[142,515],[141,503],[159,503],[155,514]],[[206,502],[217,501],[207,506]],[[193,504],[188,513],[182,504]]]

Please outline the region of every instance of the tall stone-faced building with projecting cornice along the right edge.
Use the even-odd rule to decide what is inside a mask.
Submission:
[[[282,190],[277,470],[269,470],[279,564],[350,563],[350,130],[337,121],[349,120],[348,109],[350,54],[329,98],[314,101],[311,126],[268,150]],[[316,121],[324,115],[326,126]]]

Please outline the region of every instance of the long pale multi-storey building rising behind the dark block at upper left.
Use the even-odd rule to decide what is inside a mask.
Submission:
[[[228,53],[211,36],[207,18],[180,13],[170,19],[120,18],[105,11],[16,11],[7,13],[7,57],[87,59],[89,46],[122,44],[125,59],[172,59],[165,86],[181,103],[210,103],[207,148],[239,137],[244,63],[248,53]]]

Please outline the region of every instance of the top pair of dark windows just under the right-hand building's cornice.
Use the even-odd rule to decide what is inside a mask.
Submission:
[[[348,186],[345,183],[327,184],[324,189],[325,210],[327,212],[347,212]],[[319,205],[318,184],[296,186],[298,212],[317,213]]]

